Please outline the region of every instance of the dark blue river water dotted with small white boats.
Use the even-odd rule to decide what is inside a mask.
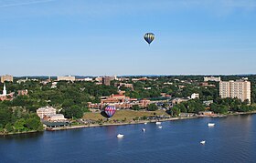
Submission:
[[[0,138],[0,162],[256,162],[256,115],[161,126],[87,127]],[[119,133],[124,138],[116,138]]]

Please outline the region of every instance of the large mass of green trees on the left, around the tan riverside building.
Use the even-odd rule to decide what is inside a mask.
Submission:
[[[91,82],[58,82],[55,88],[51,87],[51,83],[40,81],[5,85],[7,93],[15,92],[16,97],[12,101],[0,102],[1,133],[42,130],[42,123],[36,114],[39,107],[56,107],[65,117],[80,118],[88,111],[87,102],[99,102],[101,96],[117,93],[116,87],[98,86]],[[24,89],[28,90],[28,95],[17,96],[17,91]]]

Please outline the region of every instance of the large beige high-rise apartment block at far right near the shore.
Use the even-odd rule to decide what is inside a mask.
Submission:
[[[251,82],[247,80],[229,80],[219,82],[219,97],[237,97],[251,104]]]

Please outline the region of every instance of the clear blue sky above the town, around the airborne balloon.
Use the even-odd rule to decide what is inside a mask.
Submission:
[[[0,75],[254,74],[255,52],[254,0],[0,0]]]

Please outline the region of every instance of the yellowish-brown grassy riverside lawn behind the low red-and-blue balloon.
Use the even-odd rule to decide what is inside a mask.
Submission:
[[[126,118],[126,120],[130,121],[133,120],[135,117],[150,117],[150,116],[161,116],[165,115],[168,116],[167,113],[163,110],[157,110],[157,111],[133,111],[133,110],[117,110],[115,114],[111,117],[112,120],[122,120]],[[91,120],[98,120],[103,119],[106,117],[103,117],[101,113],[85,113],[83,116],[84,119],[91,119]]]

